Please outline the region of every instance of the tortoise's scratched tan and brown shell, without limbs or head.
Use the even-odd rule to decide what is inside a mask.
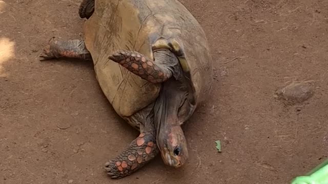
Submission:
[[[160,84],[141,79],[108,59],[118,49],[153,59],[152,44],[159,38],[174,38],[187,60],[196,103],[209,93],[212,58],[207,38],[197,20],[176,0],[96,0],[84,32],[99,85],[121,117],[155,101]]]

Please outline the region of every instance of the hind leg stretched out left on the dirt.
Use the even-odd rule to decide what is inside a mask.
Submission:
[[[54,40],[54,37],[50,39],[39,57],[41,61],[54,58],[91,60],[91,54],[87,50],[84,40],[57,41]]]

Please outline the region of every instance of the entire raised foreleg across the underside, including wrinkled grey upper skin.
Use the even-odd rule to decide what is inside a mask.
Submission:
[[[127,50],[118,50],[109,56],[109,59],[152,83],[165,82],[176,74],[174,67],[177,66],[179,61],[170,50],[155,51],[154,58],[155,61],[138,52]]]

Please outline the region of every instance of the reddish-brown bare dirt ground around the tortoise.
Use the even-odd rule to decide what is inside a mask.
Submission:
[[[289,183],[327,157],[328,2],[183,0],[209,38],[215,79],[185,127],[189,163],[172,169],[157,157],[110,179],[103,164],[138,132],[108,103],[92,63],[37,58],[50,37],[83,34],[79,3],[0,1],[0,183]],[[309,80],[309,100],[274,98]]]

